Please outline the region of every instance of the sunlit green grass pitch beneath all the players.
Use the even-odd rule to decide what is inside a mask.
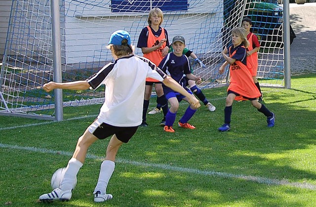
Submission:
[[[162,114],[148,115],[150,125],[119,149],[108,186],[114,198],[104,204],[92,193],[109,139],[90,147],[70,202],[38,203],[100,105],[65,108],[62,122],[0,117],[0,206],[316,206],[316,74],[292,77],[291,88],[263,88],[273,128],[246,101],[234,103],[231,130],[218,132],[226,87],[204,90],[217,109],[198,109],[190,121],[196,130],[165,133]],[[181,103],[177,120],[186,108]]]

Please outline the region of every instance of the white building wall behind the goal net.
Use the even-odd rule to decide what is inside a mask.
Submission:
[[[162,27],[168,31],[169,41],[175,35],[183,35],[187,47],[192,48],[196,53],[205,53],[208,51],[208,45],[220,41],[218,37],[222,29],[223,3],[218,0],[205,0],[205,2],[206,5],[212,6],[208,8],[195,6],[183,14],[164,12],[165,22]],[[189,0],[189,3],[194,3],[194,0]],[[114,31],[119,29],[128,31],[132,44],[136,45],[141,30],[148,25],[148,13],[130,13],[126,16],[111,13],[110,8],[82,7],[78,2],[76,5],[65,2],[65,14],[66,64],[87,62],[89,58],[96,55],[96,51],[99,51],[98,55],[102,55],[102,58],[111,60],[111,54],[103,50]],[[172,26],[171,21],[166,21],[168,19],[173,19]],[[206,19],[208,19],[207,25],[201,27],[200,23],[205,22]],[[212,33],[209,33],[209,28],[212,29]],[[135,53],[141,54],[140,49],[137,48]]]

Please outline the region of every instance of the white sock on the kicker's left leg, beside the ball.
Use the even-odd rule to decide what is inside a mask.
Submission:
[[[61,182],[59,188],[62,190],[72,190],[75,179],[79,172],[79,169],[83,166],[83,164],[77,160],[76,158],[72,158],[69,160],[68,165],[66,167],[66,172],[64,175],[64,179]]]

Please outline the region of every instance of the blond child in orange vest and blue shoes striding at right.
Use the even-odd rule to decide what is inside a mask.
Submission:
[[[268,127],[275,125],[275,114],[257,100],[261,96],[261,93],[253,82],[249,67],[247,66],[246,47],[248,46],[249,41],[247,40],[246,30],[242,27],[237,27],[232,31],[232,45],[228,49],[225,47],[222,51],[226,62],[220,67],[219,73],[223,74],[225,67],[230,64],[231,81],[227,89],[224,124],[218,128],[219,131],[230,130],[232,105],[234,99],[237,99],[237,97],[250,100],[252,106],[267,117]]]

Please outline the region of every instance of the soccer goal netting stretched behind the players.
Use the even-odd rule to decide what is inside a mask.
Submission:
[[[0,75],[1,115],[55,119],[56,93],[41,87],[59,73],[53,67],[54,57],[61,61],[62,82],[88,78],[113,61],[106,45],[114,31],[128,31],[137,44],[153,7],[164,13],[162,27],[169,41],[175,35],[184,36],[187,48],[206,65],[194,66],[194,73],[203,80],[201,88],[229,83],[228,68],[218,73],[224,62],[221,51],[245,16],[252,19],[253,32],[262,43],[257,74],[261,85],[284,86],[283,10],[277,0],[59,0],[59,51],[53,49],[51,2],[12,1]],[[141,50],[137,48],[135,54],[142,55]],[[103,101],[104,88],[62,91],[63,107]]]

